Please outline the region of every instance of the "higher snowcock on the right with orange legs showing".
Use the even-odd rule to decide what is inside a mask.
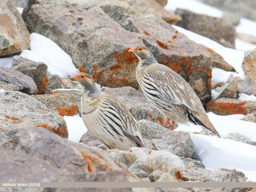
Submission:
[[[191,122],[219,135],[200,99],[185,79],[169,67],[159,64],[147,47],[134,47],[129,52],[139,59],[136,68],[137,81],[150,103],[167,118],[165,127],[171,119],[172,130],[175,122]]]

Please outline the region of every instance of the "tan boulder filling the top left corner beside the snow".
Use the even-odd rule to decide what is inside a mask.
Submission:
[[[29,49],[29,31],[13,1],[0,2],[0,57]]]

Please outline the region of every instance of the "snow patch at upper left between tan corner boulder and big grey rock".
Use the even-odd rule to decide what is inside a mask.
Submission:
[[[44,62],[51,74],[65,78],[78,73],[69,55],[51,39],[43,35],[30,34],[30,50],[22,50],[20,56],[33,61]]]

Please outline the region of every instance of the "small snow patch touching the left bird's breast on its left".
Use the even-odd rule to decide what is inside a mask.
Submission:
[[[83,119],[79,117],[79,115],[64,116],[64,119],[67,124],[68,139],[70,141],[79,142],[82,135],[87,131]]]

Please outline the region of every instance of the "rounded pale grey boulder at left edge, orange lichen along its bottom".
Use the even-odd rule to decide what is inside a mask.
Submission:
[[[63,117],[25,93],[17,91],[0,93],[0,109],[0,127],[3,129],[9,129],[9,124],[34,124],[45,127],[61,137],[68,137],[67,125]]]

